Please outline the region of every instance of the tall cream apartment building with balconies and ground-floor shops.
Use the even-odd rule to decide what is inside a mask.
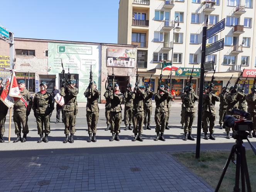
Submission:
[[[225,19],[225,29],[207,39],[210,45],[224,38],[224,49],[205,57],[205,61],[214,61],[216,67],[214,92],[218,94],[232,74],[231,84],[234,83],[243,69],[246,69],[243,77],[249,74],[250,79],[245,92],[252,86],[256,72],[255,1],[120,0],[118,13],[118,43],[138,45],[141,82],[147,84],[153,74],[153,88],[157,89],[161,61],[167,60],[179,67],[171,83],[177,95],[185,86],[186,71],[193,66],[198,72],[193,80],[197,92],[202,28],[210,28]],[[161,84],[166,82],[169,72],[163,71],[165,79]],[[211,76],[207,72],[206,81]]]

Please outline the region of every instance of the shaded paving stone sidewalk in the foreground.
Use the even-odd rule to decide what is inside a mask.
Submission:
[[[213,191],[166,152],[0,158],[0,163],[1,191]]]

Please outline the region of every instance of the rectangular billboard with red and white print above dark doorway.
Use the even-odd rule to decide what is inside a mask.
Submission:
[[[135,49],[108,48],[108,67],[135,67]]]

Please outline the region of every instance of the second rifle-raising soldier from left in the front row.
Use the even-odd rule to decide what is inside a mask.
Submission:
[[[87,98],[86,104],[86,120],[88,125],[89,139],[87,142],[96,142],[97,123],[99,119],[99,105],[98,99],[100,91],[97,89],[96,82],[93,82],[93,89],[87,88],[84,92],[84,96]],[[93,133],[93,137],[91,136]]]

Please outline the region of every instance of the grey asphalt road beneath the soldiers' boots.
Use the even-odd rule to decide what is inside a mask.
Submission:
[[[217,103],[216,106],[219,104]],[[168,151],[168,152],[184,152],[195,151],[196,141],[183,141],[184,131],[180,129],[180,110],[181,103],[175,102],[172,104],[171,116],[169,119],[170,130],[165,131],[166,141],[154,141],[155,138],[155,121],[154,113],[152,114],[152,130],[143,130],[142,137],[143,142],[132,142],[133,133],[131,130],[125,131],[125,125],[121,124],[120,141],[110,142],[110,131],[104,131],[106,128],[106,119],[104,115],[104,104],[99,104],[99,121],[97,126],[97,142],[88,143],[87,122],[86,122],[86,109],[79,108],[77,115],[76,133],[74,136],[74,143],[62,143],[65,138],[64,135],[64,123],[57,123],[56,121],[56,109],[52,113],[51,117],[51,133],[49,134],[49,143],[37,143],[39,136],[37,135],[37,126],[33,113],[29,116],[29,134],[27,135],[27,142],[25,143],[13,143],[16,136],[14,133],[14,123],[11,123],[11,142],[8,143],[8,122],[9,114],[5,124],[5,143],[0,143],[0,151],[2,157],[22,157],[22,156],[39,156],[39,155],[51,155],[51,154],[100,154],[100,153],[127,153],[127,152],[156,152],[156,151]],[[124,107],[123,107],[124,108]],[[153,107],[153,112],[155,107]],[[217,110],[218,112],[218,107]],[[123,118],[123,115],[122,115]],[[227,140],[224,130],[220,130],[218,126],[219,117],[217,116],[215,133],[216,140],[204,140],[203,134],[201,134],[201,150],[231,150],[235,140]],[[196,137],[197,133],[197,115],[193,124],[192,135]],[[250,139],[254,146],[256,146],[256,138]],[[249,144],[245,141],[247,148]]]

